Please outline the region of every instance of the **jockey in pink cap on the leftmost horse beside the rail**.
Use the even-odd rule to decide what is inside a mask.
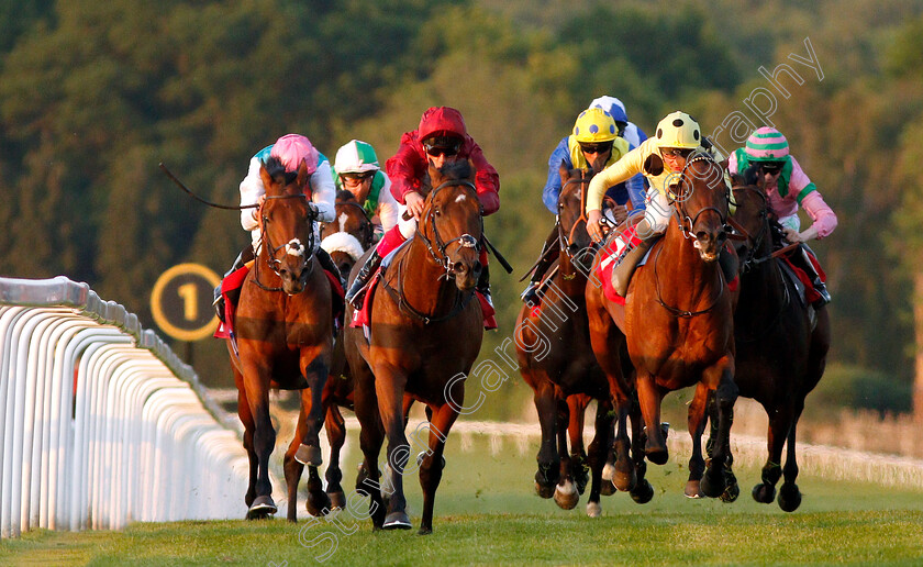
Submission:
[[[331,222],[335,218],[335,190],[330,162],[311,145],[311,142],[307,137],[300,134],[286,134],[277,140],[275,144],[264,147],[251,158],[247,175],[241,181],[241,207],[263,203],[266,196],[266,188],[263,187],[259,170],[263,167],[264,160],[268,157],[278,158],[285,166],[286,171],[289,173],[298,171],[302,162],[308,165],[310,178],[308,186],[304,188],[304,192],[309,196],[313,207],[318,211],[318,218],[314,220],[313,252],[320,260],[321,266],[338,277],[340,270],[336,268],[336,265],[330,255],[320,247],[320,227],[318,226],[319,222]],[[241,226],[245,231],[251,232],[252,244],[246,246],[237,255],[234,265],[231,266],[231,269],[227,270],[224,277],[244,267],[247,262],[254,259],[259,254],[262,234],[259,221],[257,220],[259,208],[241,210]],[[214,307],[218,312],[218,318],[224,322],[224,298],[221,294],[220,285],[215,288]]]

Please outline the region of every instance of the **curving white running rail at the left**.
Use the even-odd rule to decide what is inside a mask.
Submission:
[[[243,518],[247,457],[222,414],[124,307],[0,278],[0,536]]]

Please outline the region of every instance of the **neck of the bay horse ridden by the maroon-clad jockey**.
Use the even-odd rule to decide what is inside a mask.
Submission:
[[[396,257],[399,286],[408,303],[420,312],[434,316],[444,315],[455,304],[458,288],[445,277],[423,238],[414,235],[402,257]]]

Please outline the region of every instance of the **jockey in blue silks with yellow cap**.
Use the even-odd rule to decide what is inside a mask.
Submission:
[[[542,191],[542,201],[555,215],[558,213],[558,199],[561,191],[561,165],[568,169],[591,168],[594,171],[601,171],[629,153],[631,146],[627,141],[619,136],[619,126],[614,118],[616,116],[608,110],[591,105],[580,112],[574,123],[572,133],[565,136],[552,153],[548,158],[548,181]],[[624,112],[620,112],[618,118],[624,118]],[[631,188],[627,187],[629,185]],[[629,182],[612,185],[607,189],[605,194],[619,204],[631,200],[634,208],[644,208],[644,189],[640,175],[629,179]],[[534,303],[538,300],[538,287],[545,273],[554,264],[557,257],[555,252],[559,252],[558,247],[556,223],[548,237],[545,238],[538,264],[535,265],[529,286],[522,292],[521,298],[524,302]]]

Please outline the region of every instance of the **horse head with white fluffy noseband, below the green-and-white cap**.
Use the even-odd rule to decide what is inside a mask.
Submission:
[[[344,279],[371,246],[374,236],[375,226],[353,193],[337,192],[336,219],[321,223],[321,247],[330,254]]]

